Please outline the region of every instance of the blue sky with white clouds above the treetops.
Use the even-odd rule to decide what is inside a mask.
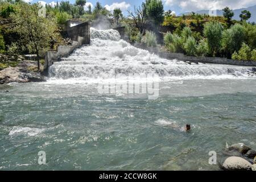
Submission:
[[[38,0],[23,0],[26,2],[38,2]],[[56,0],[40,0],[52,5]],[[63,1],[63,0],[59,0]],[[67,0],[64,0],[67,1]],[[139,6],[144,0],[87,0],[87,5],[95,5],[96,2],[100,2],[102,6],[105,6],[108,10],[113,11],[115,7],[119,7],[124,14],[127,14],[127,10],[133,10],[134,6]],[[176,14],[197,11],[197,10],[216,10],[223,9],[229,6],[231,9],[240,9],[242,7],[250,7],[256,5],[255,0],[162,0],[164,10],[175,11]],[[75,0],[69,2],[74,3]]]

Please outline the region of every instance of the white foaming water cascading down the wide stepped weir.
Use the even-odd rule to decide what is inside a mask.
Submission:
[[[247,78],[250,67],[230,65],[189,65],[183,61],[162,59],[120,39],[118,31],[90,29],[91,44],[76,49],[69,57],[49,68],[50,81],[69,79],[80,82],[141,78],[150,73],[161,80],[187,78]]]

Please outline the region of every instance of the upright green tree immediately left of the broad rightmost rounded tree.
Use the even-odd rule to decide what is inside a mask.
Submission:
[[[209,53],[215,56],[221,48],[223,27],[218,22],[208,22],[204,26],[204,36],[207,38]]]

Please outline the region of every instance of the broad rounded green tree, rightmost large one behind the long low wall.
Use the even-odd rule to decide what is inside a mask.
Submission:
[[[234,51],[238,51],[241,48],[242,43],[245,42],[245,39],[245,27],[241,26],[241,24],[234,24],[234,26],[228,30],[225,30],[223,33],[222,49],[231,55]]]

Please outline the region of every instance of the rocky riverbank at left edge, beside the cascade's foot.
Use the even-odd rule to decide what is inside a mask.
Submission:
[[[41,64],[40,67],[43,68],[43,65]],[[44,81],[44,77],[37,71],[36,61],[20,60],[16,67],[0,71],[0,84],[30,81]]]

